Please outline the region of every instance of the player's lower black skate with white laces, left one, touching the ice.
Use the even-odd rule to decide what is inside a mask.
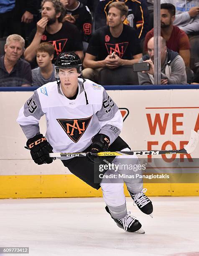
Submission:
[[[109,208],[107,206],[105,207],[105,209],[110,214]],[[142,225],[139,223],[138,220],[135,219],[134,216],[130,215],[130,212],[127,212],[127,215],[122,219],[112,219],[116,222],[119,228],[122,228],[127,232],[145,234]]]

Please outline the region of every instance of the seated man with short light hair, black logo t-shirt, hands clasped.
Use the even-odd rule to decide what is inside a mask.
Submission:
[[[83,63],[85,78],[97,81],[101,68],[115,69],[132,65],[142,57],[135,29],[123,24],[127,15],[125,3],[114,2],[109,5],[109,25],[95,31],[89,42]]]

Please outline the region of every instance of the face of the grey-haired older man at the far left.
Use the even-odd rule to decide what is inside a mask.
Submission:
[[[20,56],[23,54],[24,48],[19,41],[11,40],[8,45],[5,44],[4,50],[5,56],[8,60],[18,61]]]

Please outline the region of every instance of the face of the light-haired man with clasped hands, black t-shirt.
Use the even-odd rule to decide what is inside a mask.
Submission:
[[[121,12],[115,7],[111,7],[108,11],[108,25],[110,28],[115,28],[122,24],[125,20],[125,16],[121,17]]]

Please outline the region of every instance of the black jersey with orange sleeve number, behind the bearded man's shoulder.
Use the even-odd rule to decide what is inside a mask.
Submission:
[[[75,18],[75,25],[81,31],[82,40],[88,42],[92,32],[92,17],[87,6],[79,3],[75,10],[67,10],[66,14],[71,14]]]

